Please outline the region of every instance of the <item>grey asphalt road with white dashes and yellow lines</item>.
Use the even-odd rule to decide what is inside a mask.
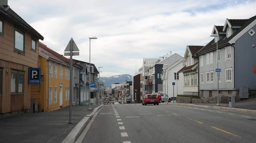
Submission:
[[[105,105],[82,143],[256,143],[256,115],[173,104]]]

